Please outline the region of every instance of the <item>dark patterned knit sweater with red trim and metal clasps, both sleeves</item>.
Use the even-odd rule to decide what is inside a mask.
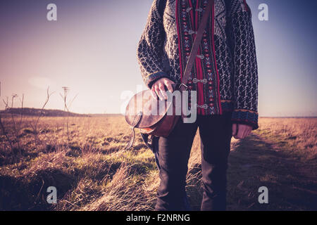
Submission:
[[[182,80],[207,4],[206,0],[154,0],[137,46],[149,88],[162,77]],[[232,122],[259,128],[256,48],[245,0],[215,0],[187,86],[197,91],[199,115],[232,112]],[[190,102],[189,98],[189,106]]]

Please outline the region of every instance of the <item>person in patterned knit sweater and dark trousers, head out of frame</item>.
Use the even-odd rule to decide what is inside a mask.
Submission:
[[[166,98],[180,82],[208,0],[154,0],[137,48],[145,84]],[[187,162],[199,127],[201,210],[225,210],[230,141],[258,129],[258,72],[251,11],[245,0],[215,0],[187,82],[197,91],[197,120],[180,120],[157,140],[161,183],[156,210],[186,210]],[[190,96],[190,94],[189,94]],[[189,107],[191,99],[189,97]]]

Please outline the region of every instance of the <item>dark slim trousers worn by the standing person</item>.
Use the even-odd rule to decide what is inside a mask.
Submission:
[[[198,115],[197,121],[192,124],[180,120],[168,137],[159,138],[156,156],[161,167],[161,183],[157,191],[156,210],[186,210],[187,164],[197,127],[201,138],[204,191],[201,210],[225,210],[226,171],[232,138],[231,113]]]

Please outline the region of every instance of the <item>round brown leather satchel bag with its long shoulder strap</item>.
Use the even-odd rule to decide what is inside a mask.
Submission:
[[[201,19],[199,30],[197,31],[192,51],[190,52],[189,59],[185,68],[184,75],[182,76],[181,84],[173,84],[173,91],[186,91],[187,80],[189,78],[190,71],[194,65],[194,60],[197,56],[199,45],[203,37],[204,29],[211,12],[214,0],[209,0],[204,15]],[[165,107],[160,107],[164,105]],[[153,109],[152,107],[156,107]],[[171,113],[168,113],[172,110]],[[154,113],[155,112],[155,113]],[[135,128],[143,134],[149,134],[150,136],[168,136],[170,132],[180,120],[181,115],[175,115],[175,100],[173,101],[161,101],[159,98],[154,99],[151,96],[151,90],[140,91],[132,96],[127,108],[125,110],[125,120],[128,122],[132,129],[132,135],[128,146],[125,149],[131,148],[135,139]]]

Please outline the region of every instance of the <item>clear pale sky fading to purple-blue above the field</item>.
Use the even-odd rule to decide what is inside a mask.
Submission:
[[[317,116],[316,0],[247,0],[259,65],[259,116]],[[48,21],[46,6],[57,6]],[[137,43],[152,0],[0,1],[1,97],[75,113],[120,113],[144,86]],[[260,21],[259,5],[268,5]],[[123,98],[124,97],[124,98]],[[20,101],[15,101],[15,107]],[[0,108],[4,103],[0,102]]]

